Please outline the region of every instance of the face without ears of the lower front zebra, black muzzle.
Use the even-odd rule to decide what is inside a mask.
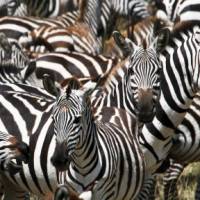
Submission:
[[[64,94],[59,98],[53,111],[56,148],[51,158],[52,164],[59,170],[67,170],[73,152],[80,139],[81,98],[75,93]]]

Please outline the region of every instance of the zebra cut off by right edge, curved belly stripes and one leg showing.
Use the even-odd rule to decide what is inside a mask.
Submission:
[[[171,164],[163,177],[165,199],[178,197],[176,183],[182,171],[190,163],[199,161],[199,104],[200,94],[197,93],[184,120],[175,130],[169,153]]]

